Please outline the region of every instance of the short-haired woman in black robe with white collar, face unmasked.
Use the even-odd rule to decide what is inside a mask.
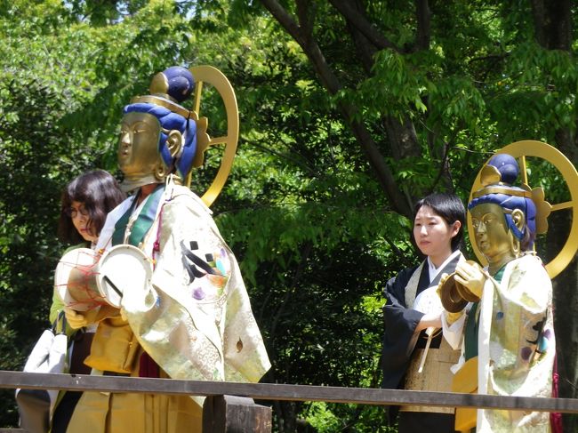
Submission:
[[[435,292],[440,277],[454,272],[462,261],[465,209],[453,194],[431,194],[414,208],[413,237],[426,259],[417,267],[404,269],[385,288],[383,307],[385,333],[382,349],[383,388],[449,391],[450,366],[459,351],[451,349],[441,333],[442,308]],[[427,290],[429,289],[429,290]],[[421,309],[421,300],[437,301],[430,310]],[[424,351],[429,351],[422,364]],[[420,369],[421,367],[421,369]],[[420,371],[421,370],[421,371]],[[390,422],[397,407],[389,409]],[[420,405],[402,406],[399,432],[454,432],[454,409]]]

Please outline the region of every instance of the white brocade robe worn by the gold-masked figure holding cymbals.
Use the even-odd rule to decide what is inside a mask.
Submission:
[[[552,285],[532,253],[510,261],[502,281],[486,280],[480,301],[478,393],[551,397],[556,340]],[[468,317],[470,320],[470,317]],[[446,340],[462,341],[464,317],[447,326]],[[549,432],[550,413],[478,410],[478,432]]]

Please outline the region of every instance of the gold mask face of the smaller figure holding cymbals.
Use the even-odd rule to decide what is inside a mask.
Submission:
[[[513,255],[510,232],[499,204],[478,204],[470,210],[476,245],[490,265]]]

